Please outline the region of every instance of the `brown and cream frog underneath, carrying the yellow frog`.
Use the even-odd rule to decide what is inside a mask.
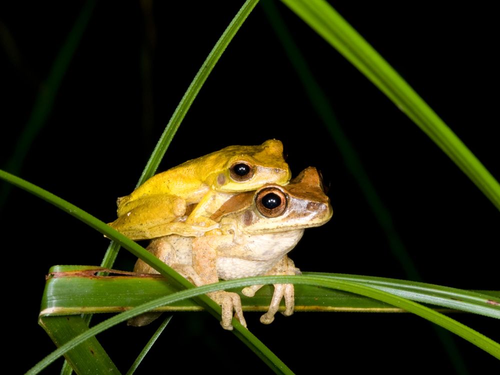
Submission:
[[[227,234],[218,230],[199,237],[169,235],[151,241],[148,250],[162,261],[190,278],[195,285],[256,275],[299,274],[288,258],[301,238],[304,228],[319,226],[332,215],[328,197],[315,168],[308,167],[286,186],[266,184],[256,191],[242,192],[229,198],[211,219],[234,228]],[[134,270],[143,273],[156,271],[137,260]],[[242,290],[253,296],[262,285]],[[270,323],[284,297],[283,314],[293,313],[293,284],[275,284],[268,311],[260,321]],[[221,325],[232,329],[232,311],[246,326],[239,295],[217,291],[208,294],[222,306]],[[145,325],[154,315],[142,315],[129,321]]]

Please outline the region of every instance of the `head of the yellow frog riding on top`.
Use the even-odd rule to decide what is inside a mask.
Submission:
[[[285,185],[291,177],[283,158],[283,145],[276,139],[258,146],[229,146],[207,155],[210,170],[206,184],[221,192],[249,191],[266,183]]]

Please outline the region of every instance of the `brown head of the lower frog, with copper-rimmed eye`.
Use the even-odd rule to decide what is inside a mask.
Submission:
[[[332,214],[319,173],[308,167],[286,186],[266,184],[233,196],[212,219],[236,220],[243,232],[258,234],[319,226]]]

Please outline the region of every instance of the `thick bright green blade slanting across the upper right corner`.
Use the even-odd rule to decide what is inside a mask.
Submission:
[[[282,0],[371,80],[500,209],[500,184],[402,77],[324,0]]]

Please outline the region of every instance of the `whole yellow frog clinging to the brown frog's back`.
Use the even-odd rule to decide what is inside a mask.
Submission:
[[[265,183],[285,185],[291,173],[283,145],[229,146],[158,173],[117,200],[111,225],[131,239],[203,235],[219,227],[209,216],[234,193]],[[186,206],[198,203],[185,217]]]

